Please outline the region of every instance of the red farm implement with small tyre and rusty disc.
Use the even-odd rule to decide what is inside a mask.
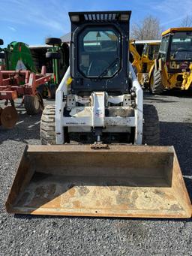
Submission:
[[[41,74],[31,71],[5,71],[0,66],[0,100],[5,100],[5,108],[0,107],[0,125],[12,128],[17,122],[17,110],[14,100],[23,98],[23,104],[28,115],[35,115],[43,110],[43,98],[37,88],[51,80],[51,74],[46,74],[45,66]],[[10,102],[10,106],[7,104]]]

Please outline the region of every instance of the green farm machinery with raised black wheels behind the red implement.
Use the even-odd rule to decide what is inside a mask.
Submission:
[[[57,44],[54,40],[57,41]],[[3,45],[3,43],[1,40],[0,45]],[[69,50],[68,45],[62,46],[62,41],[58,38],[48,38],[46,40],[46,44],[52,45],[52,43],[54,44],[48,49],[46,56],[45,53],[40,52],[40,58],[35,62],[34,55],[27,44],[11,42],[7,47],[0,48],[1,69],[7,71],[28,70],[34,72],[34,74],[40,74],[42,65],[45,65],[46,73],[52,74],[52,80],[38,86],[37,91],[40,92],[43,98],[55,98],[58,83],[60,83],[63,73],[68,68]]]

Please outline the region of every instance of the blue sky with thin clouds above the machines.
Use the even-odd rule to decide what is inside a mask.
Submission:
[[[151,14],[163,29],[179,26],[192,14],[192,0],[1,0],[0,38],[43,44],[47,37],[61,37],[70,32],[68,11],[130,10],[131,23]]]

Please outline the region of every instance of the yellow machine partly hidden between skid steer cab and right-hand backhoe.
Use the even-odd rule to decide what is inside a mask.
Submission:
[[[142,55],[139,55],[133,40],[130,40],[129,50],[133,56],[132,66],[136,73],[139,84],[146,87],[149,83],[148,73],[151,66],[154,65],[154,59],[157,59],[159,42],[148,42],[144,44]]]

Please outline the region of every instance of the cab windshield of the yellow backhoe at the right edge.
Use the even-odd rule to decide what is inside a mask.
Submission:
[[[192,32],[176,32],[171,37],[170,60],[192,59]]]

